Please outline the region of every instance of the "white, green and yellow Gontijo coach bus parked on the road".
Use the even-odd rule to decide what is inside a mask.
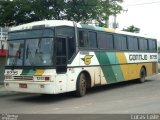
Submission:
[[[59,94],[157,74],[157,41],[139,34],[66,20],[11,28],[5,88]]]

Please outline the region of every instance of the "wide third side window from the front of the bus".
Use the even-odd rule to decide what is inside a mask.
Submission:
[[[99,47],[101,49],[113,49],[113,36],[107,33],[99,33]]]

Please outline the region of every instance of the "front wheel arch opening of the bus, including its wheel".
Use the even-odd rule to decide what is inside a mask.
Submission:
[[[82,71],[76,82],[76,96],[82,97],[86,94],[87,88],[91,87],[91,77],[87,71]]]

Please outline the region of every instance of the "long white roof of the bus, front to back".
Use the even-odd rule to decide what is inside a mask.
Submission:
[[[16,27],[12,27],[10,31],[18,31],[18,30],[29,30],[34,27],[55,27],[55,26],[71,26],[73,27],[75,22],[73,21],[68,21],[68,20],[43,20],[43,21],[36,21],[36,22],[31,22],[23,25],[19,25]],[[131,32],[125,32],[125,31],[120,31],[120,30],[114,30],[112,28],[103,28],[103,27],[98,27],[94,25],[87,25],[87,24],[81,24],[81,23],[76,23],[78,28],[84,28],[84,29],[89,29],[89,30],[96,30],[96,31],[104,31],[104,32],[110,32],[110,33],[117,33],[117,34],[123,34],[123,35],[131,35],[131,36],[138,36],[138,37],[145,37],[145,38],[152,38],[155,39],[153,36],[148,36],[144,34],[139,34],[139,33],[131,33]]]

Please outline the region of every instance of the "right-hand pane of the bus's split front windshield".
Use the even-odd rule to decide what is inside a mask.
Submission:
[[[53,38],[28,39],[25,49],[25,66],[53,65]]]

